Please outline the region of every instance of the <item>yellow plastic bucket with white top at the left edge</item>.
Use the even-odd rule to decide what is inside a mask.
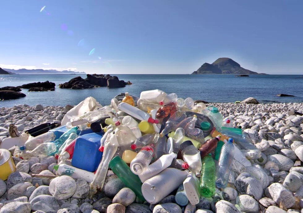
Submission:
[[[0,149],[0,179],[7,177],[16,170],[15,163],[8,150]]]

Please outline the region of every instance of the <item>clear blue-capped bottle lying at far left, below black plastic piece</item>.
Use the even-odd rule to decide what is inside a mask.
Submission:
[[[33,150],[42,143],[53,141],[55,137],[56,136],[53,132],[47,132],[36,137],[29,137],[28,140],[24,143],[24,146],[20,146],[20,150]]]

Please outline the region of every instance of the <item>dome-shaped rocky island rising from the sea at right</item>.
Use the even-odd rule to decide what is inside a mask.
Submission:
[[[192,74],[237,74],[237,75],[249,75],[249,74],[258,74],[258,75],[267,75],[265,73],[253,72],[248,69],[244,69],[230,58],[218,58],[212,64],[203,63],[203,65]]]

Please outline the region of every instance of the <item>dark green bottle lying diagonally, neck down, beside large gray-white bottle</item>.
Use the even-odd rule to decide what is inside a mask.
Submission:
[[[138,175],[132,173],[130,167],[127,166],[126,162],[124,162],[120,156],[114,157],[109,162],[109,168],[111,168],[111,170],[113,170],[113,173],[115,173],[118,178],[122,180],[126,187],[134,191],[140,201],[145,201],[141,191],[142,182],[140,178]]]

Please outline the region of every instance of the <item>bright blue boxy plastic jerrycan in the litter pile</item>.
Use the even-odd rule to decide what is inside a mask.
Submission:
[[[103,152],[99,152],[101,133],[89,133],[76,139],[71,165],[89,172],[96,171]]]

